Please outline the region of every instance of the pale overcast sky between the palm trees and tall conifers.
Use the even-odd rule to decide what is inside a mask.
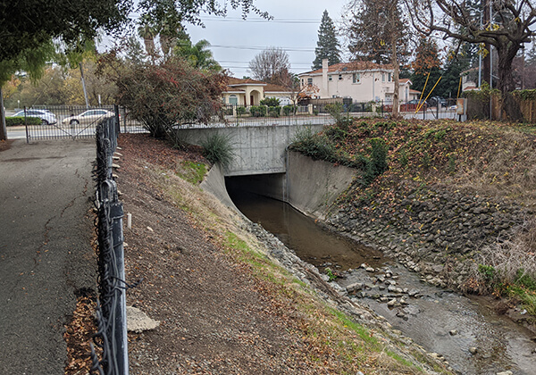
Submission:
[[[337,23],[348,0],[256,0],[255,5],[269,12],[273,21],[250,15],[240,20],[240,12],[230,11],[226,18],[203,16],[205,29],[187,25],[192,42],[206,39],[215,60],[231,75],[250,75],[248,63],[269,46],[281,47],[290,57],[291,71],[310,71],[322,12],[327,10]]]

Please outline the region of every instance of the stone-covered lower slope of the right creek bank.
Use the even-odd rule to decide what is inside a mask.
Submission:
[[[479,251],[506,240],[534,213],[515,202],[444,187],[393,191],[389,202],[365,198],[344,205],[326,224],[440,287],[464,288]]]

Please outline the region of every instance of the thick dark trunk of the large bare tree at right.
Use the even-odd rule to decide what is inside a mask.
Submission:
[[[519,46],[514,44],[502,43],[497,48],[498,54],[498,89],[501,93],[501,113],[507,121],[522,121],[523,113],[519,103],[512,95],[515,90],[515,81],[512,76],[512,62],[515,54],[519,50]]]

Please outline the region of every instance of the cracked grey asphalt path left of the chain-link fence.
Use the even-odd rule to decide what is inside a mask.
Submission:
[[[0,373],[60,374],[76,293],[96,289],[95,140],[0,152]]]

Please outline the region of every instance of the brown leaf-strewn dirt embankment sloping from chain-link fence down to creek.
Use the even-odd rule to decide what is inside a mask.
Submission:
[[[127,280],[144,278],[128,304],[160,321],[130,334],[132,374],[448,373],[189,183],[204,163],[195,150],[143,136],[123,135],[120,146]]]

